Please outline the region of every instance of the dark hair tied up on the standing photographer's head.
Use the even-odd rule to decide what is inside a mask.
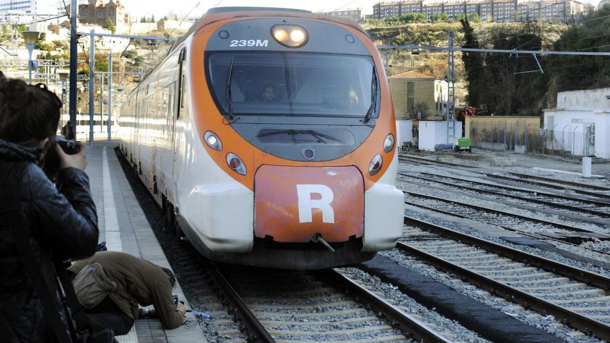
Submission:
[[[0,139],[38,146],[57,132],[62,101],[45,84],[27,85],[0,71]]]

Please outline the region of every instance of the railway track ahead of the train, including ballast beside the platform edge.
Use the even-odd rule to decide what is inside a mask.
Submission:
[[[171,230],[169,230],[171,231]],[[193,308],[213,317],[202,326],[224,342],[449,342],[375,291],[337,269],[319,272],[239,267],[211,262],[158,235],[173,251]],[[169,258],[169,256],[168,256]]]

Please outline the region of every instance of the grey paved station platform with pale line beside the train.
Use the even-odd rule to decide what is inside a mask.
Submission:
[[[125,178],[114,151],[117,145],[117,142],[95,142],[94,146],[87,146],[89,164],[85,172],[98,211],[99,242],[106,241],[109,251],[123,251],[171,269]],[[180,280],[173,292],[185,300],[179,283]],[[192,309],[186,300],[185,306]],[[187,312],[187,319],[197,323],[191,312]],[[206,339],[198,324],[164,330],[158,319],[138,319],[128,334],[117,336],[117,341],[184,343],[205,342]]]

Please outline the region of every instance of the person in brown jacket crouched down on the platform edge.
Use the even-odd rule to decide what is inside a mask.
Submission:
[[[101,251],[74,262],[76,296],[85,307],[94,333],[106,328],[127,334],[144,311],[138,304],[153,305],[163,328],[178,328],[186,308],[174,302],[171,290],[176,276],[171,270],[119,251]]]

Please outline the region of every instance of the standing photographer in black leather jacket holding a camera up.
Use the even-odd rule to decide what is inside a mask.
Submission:
[[[63,342],[76,337],[60,300],[53,261],[93,255],[98,218],[83,171],[84,145],[68,155],[54,143],[61,108],[59,98],[45,85],[6,79],[0,72],[3,342]],[[49,153],[59,158],[59,171],[53,175],[57,187],[41,169]]]

